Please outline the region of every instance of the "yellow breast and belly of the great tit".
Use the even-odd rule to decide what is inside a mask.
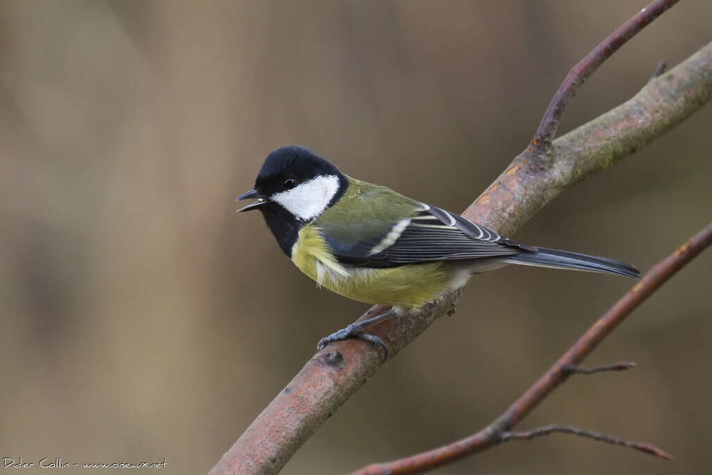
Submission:
[[[458,272],[443,262],[392,268],[346,266],[331,254],[318,228],[305,225],[292,249],[300,271],[330,291],[356,301],[415,309],[451,288]]]

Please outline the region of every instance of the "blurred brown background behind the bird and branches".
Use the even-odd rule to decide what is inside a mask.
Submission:
[[[263,157],[308,145],[462,210],[525,147],[568,69],[644,5],[1,1],[0,457],[208,471],[318,339],[367,308],[317,290],[258,213],[234,213]],[[624,46],[562,132],[710,41],[711,10],[682,2]],[[708,106],[513,237],[646,270],[712,217],[711,127]],[[636,370],[575,377],[522,426],[644,439],[674,464],[555,435],[438,473],[707,473],[711,265],[708,251],[587,361]],[[630,285],[521,267],[474,278],[459,312],[283,473],[341,473],[474,432]]]

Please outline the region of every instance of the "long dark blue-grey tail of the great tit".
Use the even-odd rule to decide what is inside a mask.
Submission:
[[[639,278],[640,271],[631,264],[607,257],[589,256],[577,252],[557,251],[538,247],[537,251],[507,256],[503,261],[524,266],[575,269],[578,271],[617,273],[619,276]]]

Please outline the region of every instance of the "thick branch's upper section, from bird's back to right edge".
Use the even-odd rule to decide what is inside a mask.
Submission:
[[[562,191],[642,149],[710,98],[712,43],[545,152],[529,147],[520,153],[463,216],[511,235]]]

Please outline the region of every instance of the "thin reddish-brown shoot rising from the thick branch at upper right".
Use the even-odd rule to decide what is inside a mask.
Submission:
[[[648,26],[651,21],[671,8],[679,0],[655,0],[644,9],[639,11],[632,19],[622,24],[608,38],[599,43],[593,51],[588,53],[571,71],[566,75],[564,81],[559,86],[556,94],[549,103],[544,113],[539,127],[536,130],[532,146],[535,150],[542,150],[543,147],[551,145],[556,135],[556,129],[561,120],[561,116],[566,110],[566,105],[576,90],[586,82],[588,78],[606,61],[610,56],[618,51],[630,38]]]

